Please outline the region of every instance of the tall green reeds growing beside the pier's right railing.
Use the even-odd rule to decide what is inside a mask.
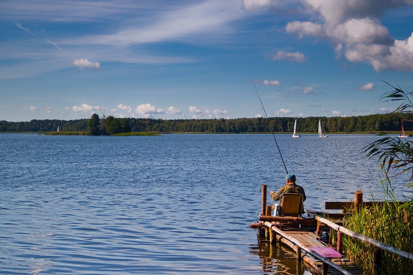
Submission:
[[[387,179],[388,180],[388,179]],[[389,185],[390,182],[389,182]],[[413,253],[413,198],[397,206],[395,194],[384,186],[387,199],[384,204],[371,208],[362,208],[344,220],[344,226],[384,244]],[[371,274],[373,267],[374,246],[353,239],[347,235],[343,238],[347,257],[354,261],[364,274]],[[382,253],[381,274],[412,274],[413,261],[404,259],[394,253]]]

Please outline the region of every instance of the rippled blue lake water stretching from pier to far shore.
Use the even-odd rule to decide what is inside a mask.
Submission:
[[[381,197],[377,136],[276,138],[307,209]],[[0,152],[1,274],[310,274],[248,228],[285,182],[272,135],[0,134]]]

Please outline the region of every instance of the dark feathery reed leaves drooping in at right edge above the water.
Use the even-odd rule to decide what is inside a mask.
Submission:
[[[390,85],[389,83],[385,82]],[[390,85],[394,90],[381,95],[381,101],[402,101],[399,107],[393,113],[408,113],[413,112],[413,92],[403,91],[398,85],[398,88]],[[413,180],[413,148],[412,142],[405,138],[386,137],[376,140],[365,147],[366,157],[372,158],[379,156],[379,163],[382,168],[388,172],[390,169],[398,172],[400,175],[405,172],[410,172],[408,181]]]

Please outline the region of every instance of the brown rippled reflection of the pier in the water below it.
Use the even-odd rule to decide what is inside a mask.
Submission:
[[[265,238],[257,236],[257,244],[250,245],[250,254],[257,255],[262,266],[262,274],[311,275],[311,271],[288,246],[276,242],[270,244]]]

